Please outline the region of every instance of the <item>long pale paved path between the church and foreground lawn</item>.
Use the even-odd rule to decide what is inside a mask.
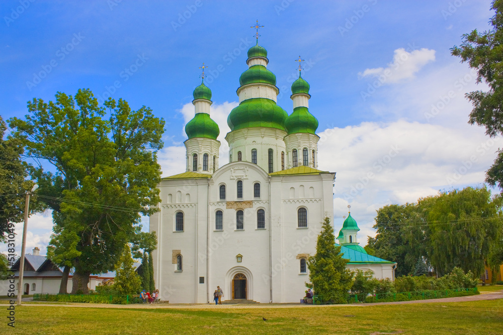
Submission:
[[[465,297],[413,300],[413,301],[393,301],[393,302],[376,302],[376,303],[359,303],[359,304],[341,304],[341,305],[306,305],[306,304],[282,304],[282,303],[254,303],[254,304],[134,304],[134,305],[111,305],[100,303],[33,303],[24,304],[23,306],[38,307],[38,306],[55,306],[55,307],[93,307],[93,308],[131,308],[131,309],[155,309],[155,308],[173,308],[173,309],[247,309],[247,308],[326,308],[326,307],[366,307],[374,305],[396,305],[396,304],[411,304],[411,303],[433,303],[433,302],[460,302],[460,301],[475,301],[475,300],[495,300],[503,299],[503,292],[484,292],[479,295],[469,295]]]

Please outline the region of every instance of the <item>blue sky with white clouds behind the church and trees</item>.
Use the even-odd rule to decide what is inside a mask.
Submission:
[[[467,124],[464,93],[486,86],[449,49],[462,34],[489,28],[489,8],[482,0],[2,1],[0,115],[22,117],[28,100],[57,91],[122,97],[164,118],[163,176],[180,173],[204,62],[225,164],[225,120],[258,19],[278,104],[289,114],[295,60],[305,59],[319,168],[337,172],[334,225],[340,229],[350,204],[365,245],[379,207],[482,184],[499,140]],[[51,215],[29,222],[27,250],[44,253]]]

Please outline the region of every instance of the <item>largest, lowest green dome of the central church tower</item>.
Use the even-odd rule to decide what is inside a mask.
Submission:
[[[241,101],[231,110],[227,125],[231,131],[249,127],[267,127],[285,130],[286,111],[274,100],[251,98]]]

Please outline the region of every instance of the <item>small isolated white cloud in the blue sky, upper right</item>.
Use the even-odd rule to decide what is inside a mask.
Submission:
[[[377,77],[380,84],[396,83],[403,79],[414,78],[415,73],[432,61],[435,61],[435,50],[423,48],[407,52],[400,48],[394,51],[393,61],[386,68],[366,69],[358,75]]]

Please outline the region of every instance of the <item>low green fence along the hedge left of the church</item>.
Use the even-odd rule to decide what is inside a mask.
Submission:
[[[59,294],[35,293],[34,301],[60,301],[60,302],[94,302],[110,304],[140,303],[142,299],[133,295],[105,295],[105,294]]]

